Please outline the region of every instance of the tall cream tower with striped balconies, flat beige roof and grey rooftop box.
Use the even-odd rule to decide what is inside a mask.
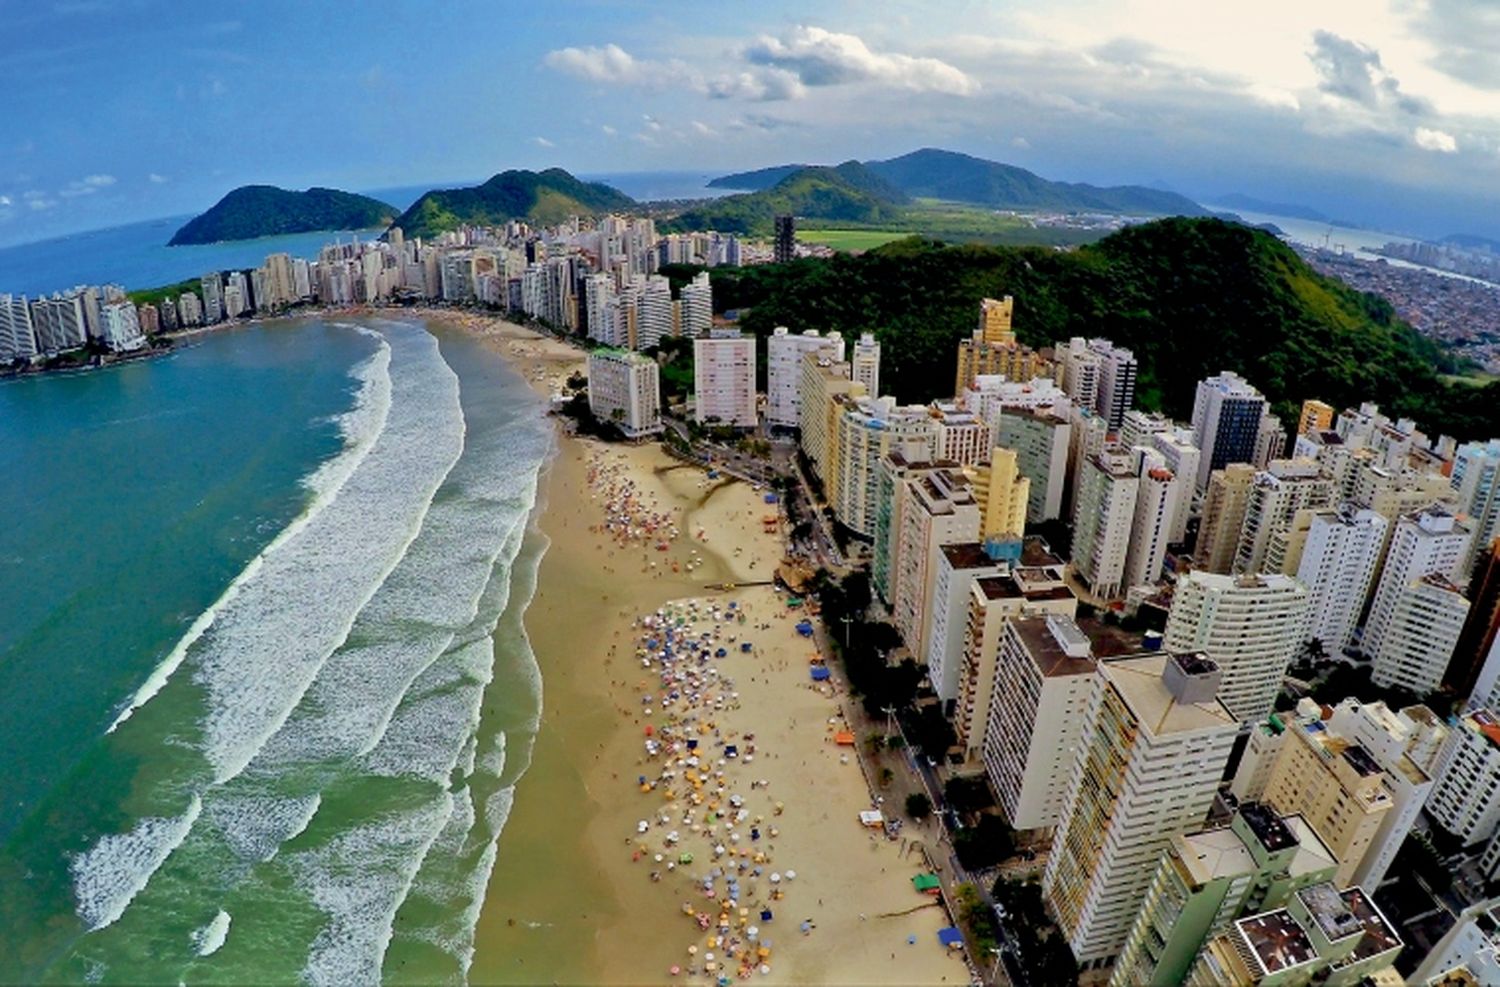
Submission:
[[[1125,946],[1156,861],[1208,814],[1239,718],[1200,654],[1101,662],[1042,894],[1083,969]]]

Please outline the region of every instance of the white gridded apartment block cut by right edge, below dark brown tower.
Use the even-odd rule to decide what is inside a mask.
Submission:
[[[1464,846],[1485,843],[1500,826],[1500,717],[1466,712],[1454,724],[1434,771],[1426,814]]]

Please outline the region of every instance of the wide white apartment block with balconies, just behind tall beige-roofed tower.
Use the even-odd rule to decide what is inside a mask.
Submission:
[[[1308,591],[1292,576],[1191,572],[1167,616],[1168,651],[1202,651],[1220,668],[1218,698],[1239,720],[1270,712],[1306,628]]]

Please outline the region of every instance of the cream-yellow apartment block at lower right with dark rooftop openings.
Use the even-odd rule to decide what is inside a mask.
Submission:
[[[1348,885],[1395,807],[1384,771],[1362,746],[1330,734],[1322,720],[1287,728],[1266,782],[1264,801],[1308,820],[1338,856],[1335,884]]]

